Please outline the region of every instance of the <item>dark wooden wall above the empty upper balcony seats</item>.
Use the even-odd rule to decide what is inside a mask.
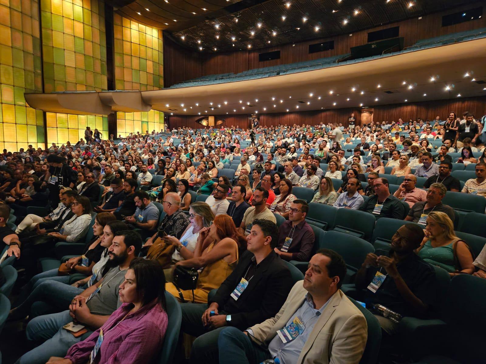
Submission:
[[[164,85],[169,87],[174,83],[190,80],[192,78],[220,74],[238,73],[248,69],[277,66],[295,62],[303,62],[318,58],[331,57],[350,52],[351,47],[367,43],[368,32],[399,26],[399,36],[404,37],[404,47],[409,47],[420,39],[432,38],[443,34],[464,32],[472,29],[486,27],[486,17],[466,21],[464,23],[442,27],[442,16],[455,11],[474,8],[482,3],[450,9],[446,12],[431,14],[422,17],[404,20],[394,24],[385,24],[373,29],[328,38],[316,38],[305,42],[286,44],[277,47],[267,47],[257,50],[238,50],[228,53],[197,53],[185,50],[167,37],[164,37]],[[334,49],[309,54],[309,45],[321,41],[334,40]],[[264,52],[280,50],[280,59],[259,62],[258,55]]]

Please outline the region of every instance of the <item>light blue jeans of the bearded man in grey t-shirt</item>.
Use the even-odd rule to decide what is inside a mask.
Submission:
[[[71,321],[69,311],[35,317],[27,325],[27,339],[47,341],[22,355],[17,364],[45,364],[52,356],[64,357],[69,348],[81,340],[62,328]]]

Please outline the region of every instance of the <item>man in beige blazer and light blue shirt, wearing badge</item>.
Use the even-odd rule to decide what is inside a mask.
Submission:
[[[339,289],[346,275],[343,258],[319,250],[275,317],[246,331],[221,331],[220,364],[359,363],[367,339],[364,315]],[[298,333],[298,334],[297,334]]]

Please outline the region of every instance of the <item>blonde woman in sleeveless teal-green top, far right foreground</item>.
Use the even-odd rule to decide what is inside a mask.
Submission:
[[[437,265],[451,276],[472,274],[472,254],[454,232],[451,218],[443,212],[431,212],[426,218],[425,237],[416,253],[427,263]]]

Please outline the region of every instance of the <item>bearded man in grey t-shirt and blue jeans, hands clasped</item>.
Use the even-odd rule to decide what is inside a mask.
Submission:
[[[108,317],[121,306],[118,296],[120,284],[130,262],[139,255],[142,240],[137,232],[122,230],[116,233],[108,248],[110,270],[97,283],[74,297],[69,310],[35,317],[26,329],[27,339],[45,341],[22,355],[19,364],[45,364],[51,357],[64,357],[69,347],[81,341],[63,327],[71,322],[85,326],[87,331],[102,327]]]

